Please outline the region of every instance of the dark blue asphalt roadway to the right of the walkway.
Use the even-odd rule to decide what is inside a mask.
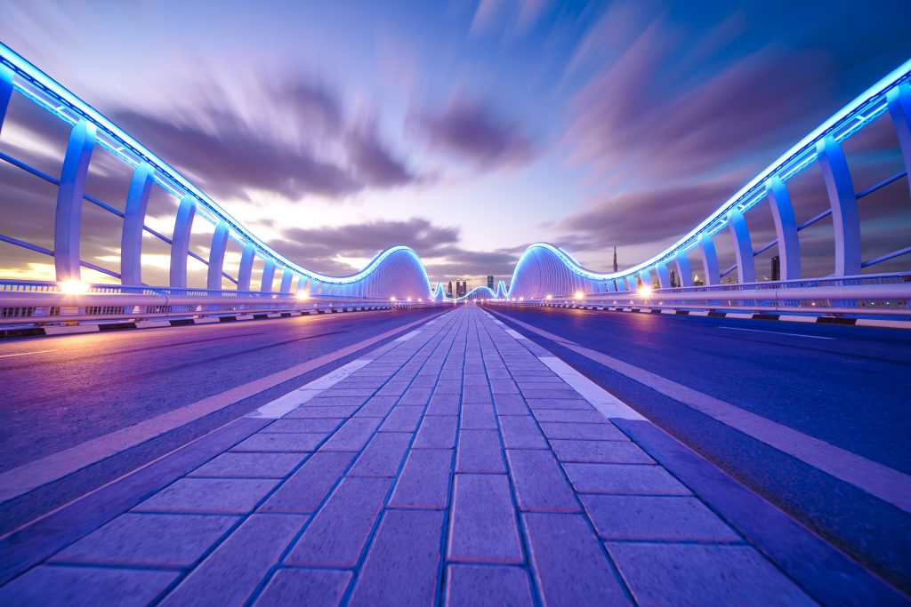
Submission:
[[[873,467],[883,464],[907,475],[908,333],[580,309],[490,310],[858,560],[909,587],[907,511],[653,388],[670,379],[732,405],[735,414],[747,411],[797,430],[799,440],[823,440],[875,462]],[[640,372],[619,372],[621,364],[606,367],[511,319]]]

